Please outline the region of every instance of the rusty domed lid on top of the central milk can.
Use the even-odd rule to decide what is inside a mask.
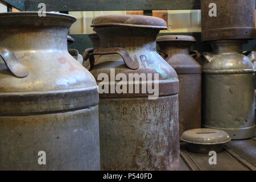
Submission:
[[[130,26],[167,29],[166,22],[154,16],[143,15],[101,15],[92,20],[91,27]]]

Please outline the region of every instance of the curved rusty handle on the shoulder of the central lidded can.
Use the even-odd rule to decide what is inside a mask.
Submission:
[[[123,61],[125,61],[125,64],[127,65],[128,68],[130,69],[139,68],[139,63],[132,60],[129,53],[125,49],[120,47],[115,47],[115,48],[100,48],[100,49],[94,50],[92,53],[89,53],[90,69],[92,69],[94,65],[94,55],[112,55],[112,54],[119,54],[122,57]]]

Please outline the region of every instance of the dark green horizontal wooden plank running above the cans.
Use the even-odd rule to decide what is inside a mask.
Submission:
[[[47,11],[200,9],[200,0],[26,0],[26,11],[37,11],[39,3],[46,3]]]

